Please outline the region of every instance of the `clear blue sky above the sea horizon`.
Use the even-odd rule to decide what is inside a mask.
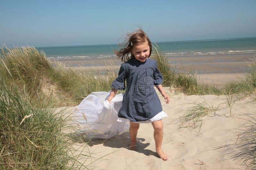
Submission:
[[[0,43],[116,44],[137,25],[156,42],[256,37],[255,9],[256,0],[0,0]]]

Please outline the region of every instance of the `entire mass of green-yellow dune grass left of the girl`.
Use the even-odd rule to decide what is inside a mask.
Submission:
[[[110,90],[117,72],[109,65],[106,74],[98,74],[97,68],[76,71],[61,63],[54,67],[34,47],[4,46],[0,57],[0,169],[88,169],[77,161],[84,157],[84,148],[72,148],[74,138],[81,140],[70,136],[76,131],[74,122],[54,107],[79,103],[93,91]]]

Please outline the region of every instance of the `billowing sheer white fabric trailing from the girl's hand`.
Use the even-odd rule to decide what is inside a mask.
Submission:
[[[117,121],[123,94],[116,95],[111,104],[106,100],[110,92],[92,92],[74,110],[72,119],[76,133],[92,138],[112,138],[129,131],[129,120]]]

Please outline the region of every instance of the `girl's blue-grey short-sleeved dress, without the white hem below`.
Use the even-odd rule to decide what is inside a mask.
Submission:
[[[134,59],[123,63],[118,77],[111,85],[114,89],[126,89],[118,117],[140,122],[163,111],[154,89],[154,85],[160,85],[162,82],[163,75],[157,69],[156,60],[148,58],[145,62],[140,62]]]

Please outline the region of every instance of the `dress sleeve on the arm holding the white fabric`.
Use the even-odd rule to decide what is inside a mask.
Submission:
[[[124,90],[125,89],[125,81],[126,79],[126,71],[124,69],[123,64],[120,67],[120,70],[118,72],[118,77],[116,80],[114,80],[111,84],[111,87],[117,90]]]

